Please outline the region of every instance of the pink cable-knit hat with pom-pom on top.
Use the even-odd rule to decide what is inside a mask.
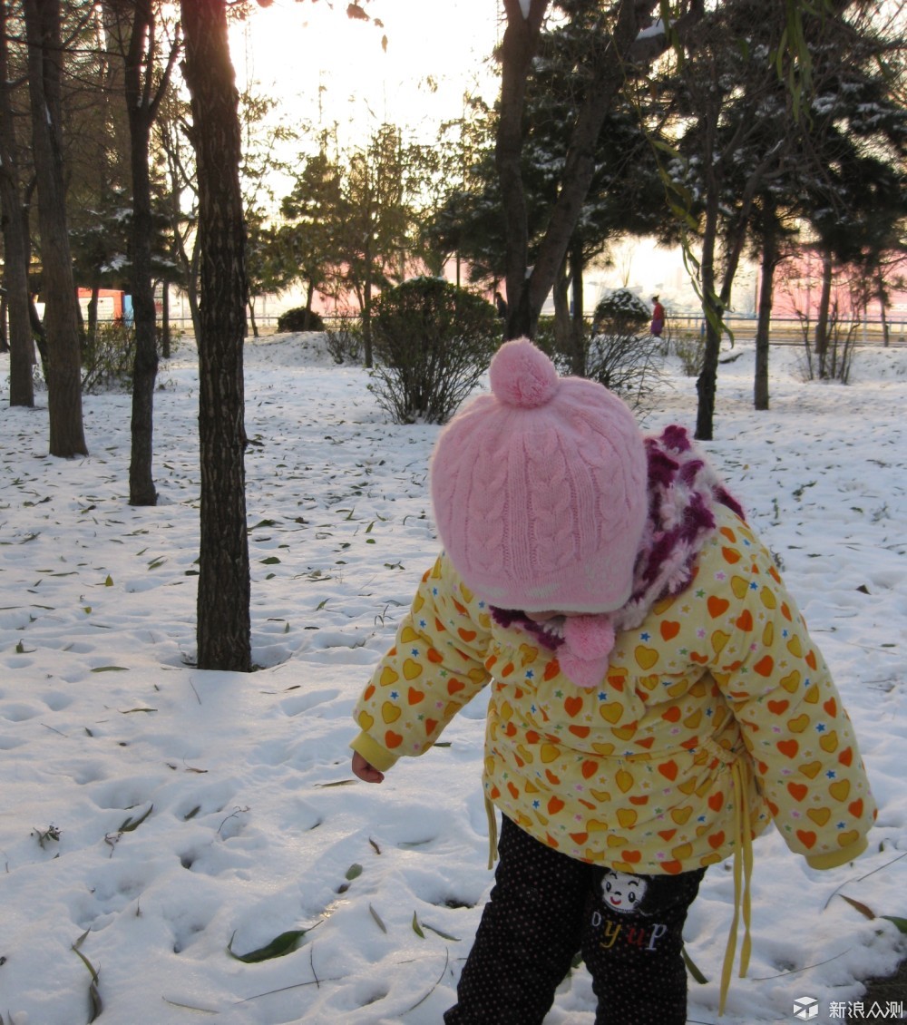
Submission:
[[[448,557],[499,608],[619,609],[648,512],[632,413],[594,381],[559,377],[526,338],[498,350],[489,377],[492,394],[451,420],[431,459]]]

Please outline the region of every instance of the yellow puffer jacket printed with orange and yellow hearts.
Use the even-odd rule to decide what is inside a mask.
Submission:
[[[382,771],[421,754],[492,681],[486,794],[571,857],[687,871],[771,819],[814,867],[856,857],[875,805],[850,719],[771,554],[733,511],[716,517],[693,582],[618,633],[593,690],[493,622],[442,556],[356,707],[351,746]]]

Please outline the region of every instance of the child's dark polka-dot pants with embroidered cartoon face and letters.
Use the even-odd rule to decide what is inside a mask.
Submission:
[[[685,1025],[683,930],[704,869],[614,873],[546,847],[507,818],[498,854],[446,1025],[541,1023],[580,950],[595,1025]]]

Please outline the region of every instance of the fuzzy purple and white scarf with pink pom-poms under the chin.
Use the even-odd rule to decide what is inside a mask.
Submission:
[[[534,623],[523,612],[491,609],[501,626],[519,626],[556,651],[562,670],[580,687],[597,687],[604,679],[615,632],[638,626],[656,602],[690,583],[696,557],[715,527],[715,503],[744,519],[685,427],[673,424],[661,437],[647,438],[646,451],[649,517],[627,603],[615,612],[568,616],[556,623]]]

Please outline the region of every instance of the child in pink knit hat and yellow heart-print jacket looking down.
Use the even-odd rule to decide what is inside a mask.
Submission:
[[[724,1004],[752,838],[774,819],[816,868],[865,849],[853,729],[772,556],[682,427],[644,438],[526,339],[490,380],[438,440],[445,550],[358,703],[353,771],[380,782],[490,683],[500,860],[445,1021],[541,1022],[581,950],[596,1025],[684,1025],[684,921],[708,865],[735,862]]]

